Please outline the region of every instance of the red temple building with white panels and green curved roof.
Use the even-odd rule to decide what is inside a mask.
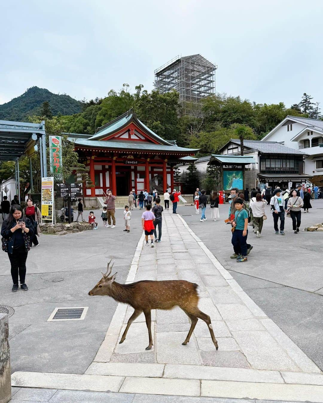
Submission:
[[[171,191],[173,166],[194,161],[198,152],[156,135],[132,110],[99,127],[94,135],[64,134],[74,142],[80,162],[90,169],[95,187],[83,189],[88,197],[103,195],[107,189],[119,196],[132,189],[136,193],[155,187],[158,193]]]

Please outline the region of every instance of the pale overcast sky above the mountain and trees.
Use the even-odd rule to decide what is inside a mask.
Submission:
[[[323,102],[322,11],[321,0],[2,2],[0,104],[34,85],[79,100],[151,90],[154,69],[196,53],[218,65],[217,92]]]

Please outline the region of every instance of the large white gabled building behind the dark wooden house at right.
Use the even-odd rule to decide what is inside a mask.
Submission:
[[[308,154],[304,160],[304,173],[319,184],[323,175],[323,121],[318,119],[286,116],[263,141],[283,142],[287,147]],[[320,147],[322,145],[322,147]],[[306,149],[306,150],[305,150]]]

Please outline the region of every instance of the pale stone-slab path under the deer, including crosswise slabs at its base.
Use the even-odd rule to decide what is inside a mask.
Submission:
[[[242,291],[183,218],[165,212],[162,243],[140,239],[126,283],[183,279],[199,285],[200,310],[210,315],[219,350],[199,320],[190,328],[179,309],[152,312],[154,347],[145,351],[144,316],[118,344],[132,309],[119,304],[85,374],[15,372],[13,386],[158,395],[321,402],[323,374]],[[228,245],[231,248],[230,245]]]

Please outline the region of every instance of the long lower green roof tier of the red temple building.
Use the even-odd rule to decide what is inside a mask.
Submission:
[[[98,147],[98,148],[123,148],[125,150],[143,150],[143,151],[166,151],[166,152],[179,152],[179,153],[195,153],[199,149],[177,147],[177,145],[168,144],[154,144],[145,141],[120,141],[120,140],[92,140],[68,137],[69,141],[73,141],[75,145],[81,147]]]

